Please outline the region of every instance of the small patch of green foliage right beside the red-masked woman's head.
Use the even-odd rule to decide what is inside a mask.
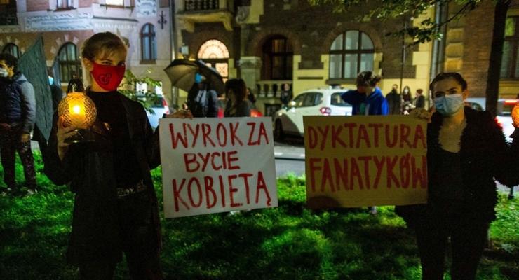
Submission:
[[[150,74],[151,69],[147,69],[146,72]],[[137,90],[137,85],[139,84],[146,84],[148,90]],[[132,71],[126,70],[124,73],[123,83],[119,86],[119,92],[126,95],[129,99],[140,102],[142,106],[144,106],[144,109],[153,113],[151,105],[156,102],[157,95],[155,92],[150,91],[149,88],[155,88],[158,86],[161,86],[159,80],[155,80],[149,76],[138,78]]]

